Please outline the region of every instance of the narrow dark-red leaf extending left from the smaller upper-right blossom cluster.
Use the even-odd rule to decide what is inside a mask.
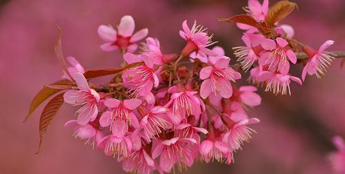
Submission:
[[[219,21],[226,21],[226,22],[233,22],[233,23],[243,23],[243,24],[250,25],[252,27],[257,28],[262,33],[266,33],[269,30],[262,23],[259,23],[259,22],[255,21],[255,19],[253,19],[253,17],[250,17],[247,14],[235,15],[235,16],[230,17],[228,19],[219,18]]]

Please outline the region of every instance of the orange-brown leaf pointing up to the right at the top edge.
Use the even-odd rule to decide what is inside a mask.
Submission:
[[[297,3],[290,1],[278,1],[267,12],[266,24],[272,28],[277,21],[280,21],[288,16],[297,7]]]

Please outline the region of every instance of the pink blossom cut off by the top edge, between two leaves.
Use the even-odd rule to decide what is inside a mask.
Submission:
[[[257,0],[249,0],[246,12],[256,21],[264,21],[268,12],[268,0],[264,0],[262,4]]]

